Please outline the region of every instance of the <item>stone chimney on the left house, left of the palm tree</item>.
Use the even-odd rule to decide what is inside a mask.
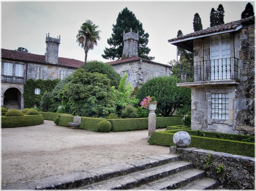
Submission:
[[[58,64],[59,44],[61,44],[61,36],[52,38],[46,34],[46,62],[50,64]]]

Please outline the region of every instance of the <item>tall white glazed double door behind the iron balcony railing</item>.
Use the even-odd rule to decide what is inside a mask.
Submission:
[[[210,37],[211,80],[231,79],[230,52],[229,33]]]

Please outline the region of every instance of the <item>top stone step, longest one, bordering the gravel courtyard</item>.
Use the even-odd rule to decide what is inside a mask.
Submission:
[[[139,161],[128,163],[118,163],[100,168],[85,170],[84,172],[74,172],[70,174],[60,174],[33,180],[32,182],[14,183],[2,185],[2,189],[74,189],[83,187],[91,183],[109,180],[117,176],[154,168],[180,160],[180,155],[166,154],[150,156]],[[158,169],[159,170],[159,169]],[[154,174],[154,172],[152,172]]]

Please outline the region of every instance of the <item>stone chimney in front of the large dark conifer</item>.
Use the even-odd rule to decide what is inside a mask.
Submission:
[[[139,34],[132,32],[124,33],[124,49],[122,57],[138,56]]]

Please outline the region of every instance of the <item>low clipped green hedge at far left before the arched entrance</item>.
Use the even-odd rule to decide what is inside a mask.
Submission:
[[[43,115],[24,115],[18,117],[1,117],[2,128],[26,127],[43,123]]]

